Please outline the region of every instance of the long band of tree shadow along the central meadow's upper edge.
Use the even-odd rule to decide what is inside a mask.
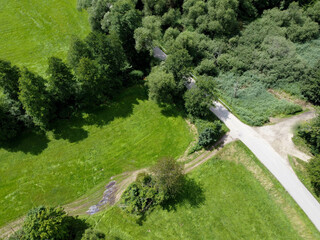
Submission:
[[[137,85],[125,89],[109,104],[103,104],[95,108],[82,109],[74,113],[70,119],[59,119],[50,124],[50,131],[55,139],[64,139],[70,143],[76,143],[86,139],[89,132],[83,127],[95,125],[102,127],[117,118],[129,117],[137,105],[138,100],[146,100],[147,95],[143,86]],[[49,143],[45,132],[28,129],[16,138],[0,143],[0,149],[10,152],[42,153]]]

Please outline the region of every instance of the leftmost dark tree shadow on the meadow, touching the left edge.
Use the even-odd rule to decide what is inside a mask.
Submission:
[[[32,155],[42,153],[48,147],[49,139],[45,132],[40,130],[27,130],[20,136],[0,143],[0,148],[9,152],[23,152]]]

